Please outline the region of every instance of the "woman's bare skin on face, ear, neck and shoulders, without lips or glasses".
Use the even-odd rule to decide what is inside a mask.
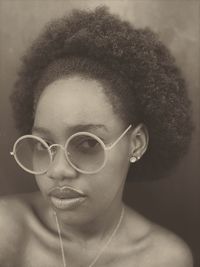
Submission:
[[[57,80],[44,89],[35,112],[34,135],[64,145],[77,131],[77,125],[80,131],[88,124],[90,127],[84,131],[96,134],[106,145],[128,126],[114,113],[100,82],[74,76]],[[66,161],[63,151],[58,150],[48,172],[36,176],[41,193],[1,200],[0,265],[62,266],[55,210],[67,265],[89,266],[119,220],[129,159],[133,153],[141,157],[147,145],[144,125],[131,128],[96,174],[77,172]],[[48,192],[63,185],[82,190],[86,200],[72,210],[55,209]],[[118,232],[95,266],[190,267],[192,257],[188,247],[174,234],[125,207]]]

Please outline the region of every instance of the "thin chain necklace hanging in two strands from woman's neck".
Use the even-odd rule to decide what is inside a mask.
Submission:
[[[57,227],[57,231],[58,231],[58,236],[59,236],[59,240],[60,240],[60,248],[61,248],[62,260],[63,260],[63,267],[67,267],[66,260],[65,260],[63,241],[62,241],[62,236],[61,236],[61,230],[60,230],[60,225],[59,225],[59,222],[58,222],[58,218],[57,218],[56,212],[54,212],[54,215],[55,215],[55,220],[56,220],[56,227]],[[122,208],[119,221],[118,221],[117,225],[115,226],[112,234],[108,238],[108,240],[105,243],[105,245],[100,249],[99,253],[96,255],[94,260],[90,263],[90,265],[88,265],[88,267],[93,267],[95,265],[95,263],[98,261],[98,259],[101,257],[101,255],[103,254],[104,250],[107,248],[107,246],[112,241],[113,237],[116,235],[116,233],[117,233],[117,231],[118,231],[118,229],[119,229],[119,227],[121,225],[123,217],[124,217],[124,207]]]

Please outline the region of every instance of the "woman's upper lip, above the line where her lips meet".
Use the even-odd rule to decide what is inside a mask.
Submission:
[[[81,190],[71,186],[54,187],[49,191],[49,195],[60,199],[70,199],[85,196]]]

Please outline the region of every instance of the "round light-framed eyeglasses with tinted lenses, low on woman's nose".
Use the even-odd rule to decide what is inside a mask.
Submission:
[[[65,146],[48,145],[38,136],[24,135],[14,143],[13,151],[10,154],[14,156],[23,170],[40,175],[48,171],[57,148],[61,148],[64,150],[66,160],[75,170],[93,174],[105,166],[107,151],[112,149],[131,127],[132,125],[129,125],[117,140],[108,146],[98,136],[89,132],[78,132],[71,135]]]

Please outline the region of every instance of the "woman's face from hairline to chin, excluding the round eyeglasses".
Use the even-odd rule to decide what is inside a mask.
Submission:
[[[50,144],[64,146],[72,134],[84,131],[108,145],[127,126],[114,113],[99,82],[75,76],[57,80],[44,89],[37,103],[32,133]],[[129,158],[129,132],[108,152],[106,165],[95,174],[75,170],[58,148],[48,171],[36,176],[36,181],[63,220],[81,223],[119,208]]]

